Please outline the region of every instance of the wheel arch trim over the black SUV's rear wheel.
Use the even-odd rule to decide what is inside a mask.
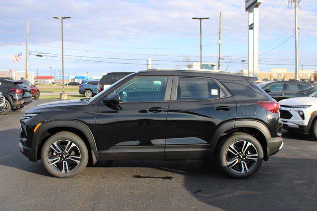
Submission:
[[[262,145],[264,152],[264,160],[268,159],[267,138],[271,137],[268,128],[256,120],[236,120],[222,124],[219,126],[211,138],[211,154],[215,155],[215,151],[221,139],[228,134],[234,132],[244,132],[254,136]]]

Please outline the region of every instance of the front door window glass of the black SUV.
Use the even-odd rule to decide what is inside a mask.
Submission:
[[[136,77],[114,92],[122,102],[164,101],[168,77]]]

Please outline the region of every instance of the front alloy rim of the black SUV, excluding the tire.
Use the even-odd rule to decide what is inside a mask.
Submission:
[[[50,146],[47,160],[55,171],[68,173],[78,167],[81,155],[75,143],[69,140],[58,140]]]

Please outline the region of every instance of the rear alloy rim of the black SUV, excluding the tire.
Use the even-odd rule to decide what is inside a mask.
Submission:
[[[258,151],[249,141],[236,141],[227,149],[226,164],[234,172],[249,172],[256,166],[257,161]]]

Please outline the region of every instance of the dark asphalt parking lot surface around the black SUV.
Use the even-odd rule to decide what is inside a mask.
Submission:
[[[20,112],[0,116],[1,210],[315,210],[317,141],[284,131],[257,174],[232,179],[210,161],[114,161],[54,178],[18,148]]]

